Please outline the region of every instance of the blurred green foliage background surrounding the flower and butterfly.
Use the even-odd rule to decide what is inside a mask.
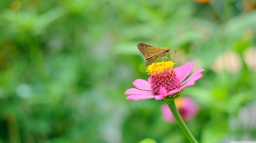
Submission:
[[[1,0],[0,143],[188,142],[164,102],[126,101],[149,77],[139,42],[205,69],[181,93],[197,141],[256,141],[255,3]]]

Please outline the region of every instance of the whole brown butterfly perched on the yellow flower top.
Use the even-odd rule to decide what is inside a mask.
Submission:
[[[167,58],[166,54],[169,53],[170,51],[168,47],[159,48],[159,47],[150,46],[143,43],[139,43],[137,46],[139,51],[142,53],[144,60],[147,61],[145,66],[150,65],[155,60],[158,60],[160,58]]]

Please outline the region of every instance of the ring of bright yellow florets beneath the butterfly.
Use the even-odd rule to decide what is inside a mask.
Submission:
[[[150,66],[147,67],[147,75],[155,75],[155,73],[161,73],[164,70],[167,70],[169,68],[172,68],[174,66],[174,62],[168,60],[168,61],[163,61],[163,62],[156,62],[151,64]]]

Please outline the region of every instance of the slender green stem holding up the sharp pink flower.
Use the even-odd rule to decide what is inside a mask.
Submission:
[[[169,108],[172,111],[172,114],[174,115],[174,118],[176,119],[177,123],[180,125],[180,128],[182,129],[182,131],[185,133],[185,135],[187,136],[188,140],[192,143],[196,142],[196,139],[193,137],[192,133],[189,131],[187,125],[184,123],[183,119],[181,118],[179,111],[177,110],[177,107],[175,105],[174,99],[172,100],[165,100],[164,102],[167,103],[167,105],[169,106]]]

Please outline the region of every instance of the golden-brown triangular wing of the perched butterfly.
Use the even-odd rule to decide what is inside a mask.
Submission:
[[[139,43],[137,46],[139,51],[142,53],[144,60],[155,59],[154,57],[158,58],[157,55],[159,55],[159,53],[162,51],[162,49],[159,47],[150,46],[143,43]]]

